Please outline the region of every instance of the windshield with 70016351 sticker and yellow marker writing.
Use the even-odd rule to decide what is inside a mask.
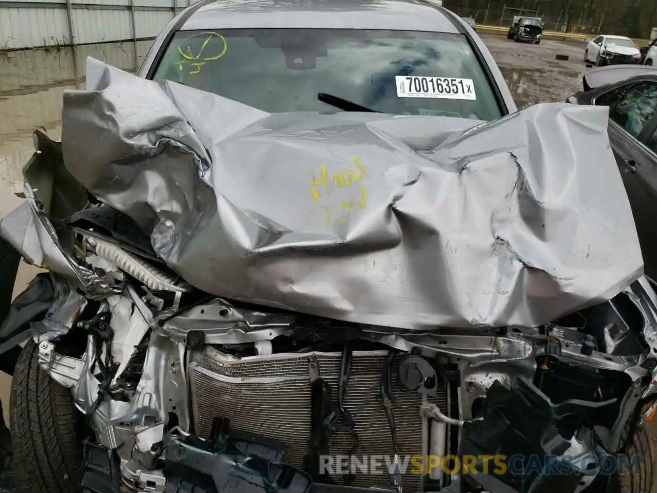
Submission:
[[[177,32],[154,79],[180,82],[267,112],[339,111],[319,101],[319,93],[326,93],[392,114],[478,120],[501,116],[484,69],[461,34]]]

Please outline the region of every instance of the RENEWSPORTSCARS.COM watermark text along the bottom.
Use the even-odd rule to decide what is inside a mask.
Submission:
[[[492,474],[531,475],[574,474],[586,475],[630,473],[637,471],[640,456],[612,456],[590,454],[578,456],[320,456],[319,473],[328,475],[428,475],[439,469],[447,475]]]

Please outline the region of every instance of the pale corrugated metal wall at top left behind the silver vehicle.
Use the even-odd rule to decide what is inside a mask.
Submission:
[[[152,38],[189,3],[194,0],[0,0],[0,53]]]

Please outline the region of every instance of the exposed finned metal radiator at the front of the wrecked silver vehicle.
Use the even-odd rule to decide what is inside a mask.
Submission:
[[[194,352],[189,375],[196,433],[206,438],[210,434],[212,420],[217,416],[227,417],[231,429],[258,433],[286,443],[288,450],[285,461],[302,467],[308,450],[311,425],[308,369],[308,357],[311,354],[317,358],[321,377],[332,387],[335,399],[340,353],[274,354],[238,360],[209,347],[204,352]],[[394,455],[390,427],[379,397],[379,382],[386,355],[386,351],[353,352],[345,407],[355,421],[359,439],[355,456],[359,458]],[[398,360],[392,366],[392,410],[399,454],[422,454],[422,397],[399,386],[396,381],[397,364]],[[438,404],[447,414],[447,388],[440,389],[438,398],[430,402]],[[330,454],[348,454],[348,442],[336,436],[330,444]],[[357,473],[351,486],[367,488],[387,484],[385,466],[381,471],[383,475]],[[342,477],[334,480],[336,484],[343,484]],[[406,491],[419,490],[421,482],[420,475],[403,476]]]

